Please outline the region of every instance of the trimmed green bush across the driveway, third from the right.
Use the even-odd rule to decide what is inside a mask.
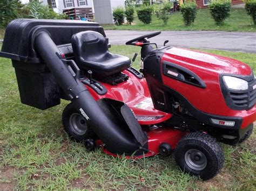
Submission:
[[[186,26],[192,25],[194,19],[197,16],[197,3],[195,2],[184,2],[180,5],[180,12],[183,16],[183,21]]]

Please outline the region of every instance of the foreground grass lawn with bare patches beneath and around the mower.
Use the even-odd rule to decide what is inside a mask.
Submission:
[[[113,46],[132,58],[138,47]],[[256,54],[210,51],[230,56],[254,68]],[[137,59],[138,60],[138,59]],[[138,62],[134,64],[138,67]],[[255,190],[255,130],[246,143],[223,145],[225,165],[212,180],[183,174],[171,157],[140,160],[113,158],[101,150],[86,152],[63,130],[62,111],[39,110],[21,104],[14,68],[0,58],[0,190],[3,189],[171,189]]]

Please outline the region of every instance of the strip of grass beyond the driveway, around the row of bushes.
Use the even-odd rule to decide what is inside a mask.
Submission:
[[[217,26],[211,18],[208,9],[199,9],[197,18],[192,26],[185,26],[180,12],[173,13],[167,25],[162,20],[157,19],[154,15],[152,23],[144,25],[134,19],[133,25],[104,25],[105,30],[161,30],[161,31],[248,31],[255,32],[256,25],[253,25],[252,19],[247,15],[245,9],[232,9],[231,16],[225,20],[221,26]]]

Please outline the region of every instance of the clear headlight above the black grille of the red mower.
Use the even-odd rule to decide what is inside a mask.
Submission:
[[[226,83],[227,88],[235,89],[235,90],[248,89],[248,82],[238,77],[223,76],[223,80]]]

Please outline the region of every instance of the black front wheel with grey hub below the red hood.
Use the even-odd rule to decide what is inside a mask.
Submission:
[[[224,152],[217,141],[203,132],[193,132],[180,140],[175,159],[182,171],[208,180],[224,164]]]

